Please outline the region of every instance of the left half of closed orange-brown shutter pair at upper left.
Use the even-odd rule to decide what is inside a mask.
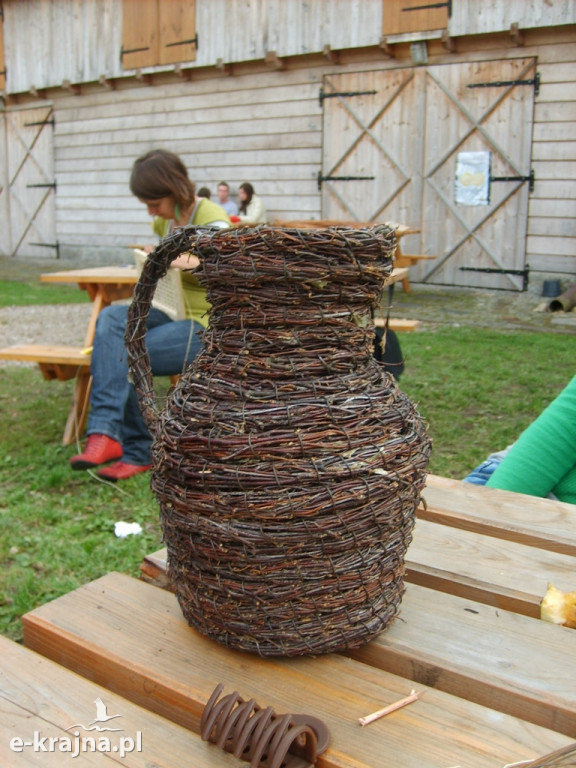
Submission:
[[[122,66],[158,64],[158,0],[122,0]]]

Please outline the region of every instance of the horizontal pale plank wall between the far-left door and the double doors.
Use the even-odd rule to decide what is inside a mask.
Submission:
[[[164,147],[198,186],[254,184],[272,217],[320,218],[320,84],[308,70],[171,82],[54,100],[58,238],[84,257],[150,242],[128,189],[133,161]]]

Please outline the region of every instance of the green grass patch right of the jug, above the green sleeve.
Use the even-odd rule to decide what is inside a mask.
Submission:
[[[571,335],[464,327],[401,343],[401,388],[429,425],[430,472],[446,477],[464,477],[512,443],[574,372]]]

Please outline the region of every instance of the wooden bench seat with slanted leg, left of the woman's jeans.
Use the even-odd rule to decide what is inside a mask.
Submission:
[[[72,407],[68,413],[63,445],[70,445],[80,439],[88,415],[90,389],[90,354],[81,347],[57,345],[24,344],[0,349],[0,360],[37,363],[42,376],[48,381],[69,381],[76,379]]]

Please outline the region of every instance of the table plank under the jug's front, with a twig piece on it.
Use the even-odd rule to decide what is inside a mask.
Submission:
[[[361,729],[358,717],[406,696],[412,683],[341,655],[260,659],[228,650],[190,629],[170,592],[121,574],[41,606],[23,623],[29,647],[195,731],[219,682],[278,713],[320,717],[331,742],[318,768],[494,768],[569,743],[434,689]]]

